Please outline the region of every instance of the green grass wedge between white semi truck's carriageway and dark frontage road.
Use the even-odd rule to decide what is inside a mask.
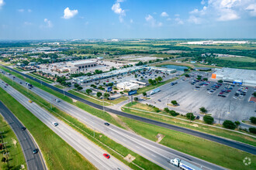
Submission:
[[[163,134],[164,138],[160,141],[161,145],[226,168],[237,170],[256,169],[256,162],[254,161],[256,160],[256,155],[220,145],[213,141],[197,138],[189,134],[157,127],[153,124],[131,120],[126,117],[120,118],[137,134],[151,141],[157,141],[157,134]],[[244,165],[243,160],[246,157],[251,158],[251,165]]]

